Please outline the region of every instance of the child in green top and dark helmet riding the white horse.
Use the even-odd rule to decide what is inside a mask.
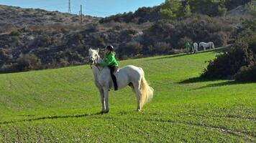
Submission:
[[[114,76],[114,73],[118,69],[118,63],[115,58],[115,52],[114,52],[114,46],[106,46],[106,53],[104,55],[104,61],[102,63],[98,64],[99,66],[106,67],[108,66],[110,69],[111,78],[114,82],[114,90],[117,90],[117,83],[116,83],[116,77]]]

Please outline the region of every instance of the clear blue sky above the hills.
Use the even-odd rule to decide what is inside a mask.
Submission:
[[[80,4],[83,14],[91,16],[110,16],[135,11],[142,6],[157,6],[165,0],[71,0],[71,13],[78,14]],[[0,0],[0,4],[22,8],[45,9],[47,11],[68,12],[68,0]]]

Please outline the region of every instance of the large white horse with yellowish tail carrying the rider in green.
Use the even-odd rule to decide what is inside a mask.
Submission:
[[[96,66],[100,63],[101,57],[99,56],[99,49],[89,49],[90,65],[93,70],[94,83],[99,89],[101,95],[101,114],[109,112],[109,89],[114,89],[114,83],[111,79],[110,70],[108,67],[101,68]],[[124,66],[123,68],[116,71],[116,82],[118,89],[124,87],[132,88],[132,91],[137,97],[137,111],[140,112],[143,105],[150,101],[153,97],[152,87],[147,84],[145,74],[142,68],[137,66]]]

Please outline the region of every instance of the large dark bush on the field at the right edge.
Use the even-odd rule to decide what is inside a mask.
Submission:
[[[256,81],[255,63],[256,33],[252,27],[247,27],[230,51],[219,54],[214,61],[209,62],[201,77],[214,79],[232,77],[239,81]]]

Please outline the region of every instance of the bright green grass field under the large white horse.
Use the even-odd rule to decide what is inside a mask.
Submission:
[[[96,114],[88,65],[0,74],[0,142],[256,142],[256,84],[198,78],[215,54],[120,61],[155,89],[140,113],[127,87]]]

